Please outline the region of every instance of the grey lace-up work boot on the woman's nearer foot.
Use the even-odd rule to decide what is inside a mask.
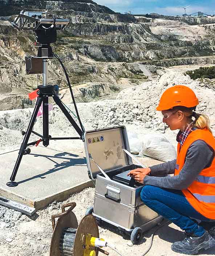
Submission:
[[[183,241],[171,245],[174,252],[195,255],[201,249],[207,250],[215,246],[214,238],[207,231],[199,237],[187,232],[184,232],[184,234],[186,237]]]

